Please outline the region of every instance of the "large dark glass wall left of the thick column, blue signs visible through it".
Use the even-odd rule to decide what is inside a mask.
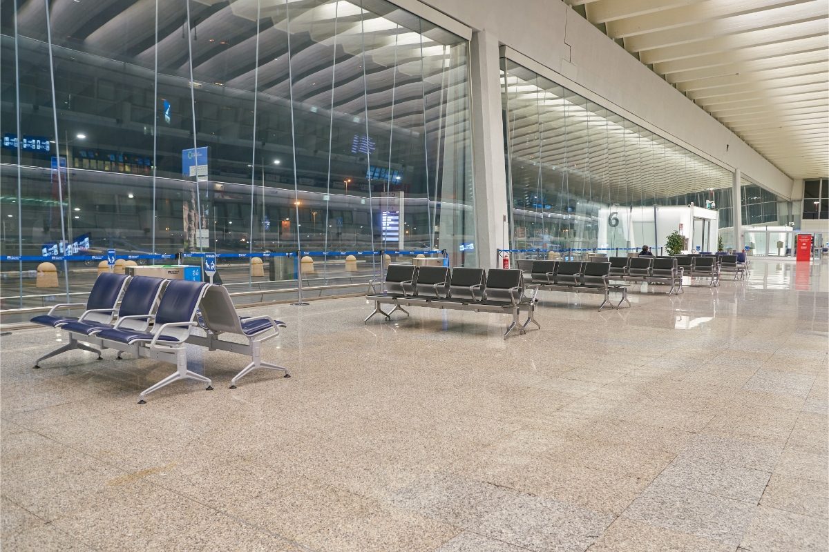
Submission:
[[[475,264],[462,38],[382,0],[0,9],[3,256],[405,248]]]

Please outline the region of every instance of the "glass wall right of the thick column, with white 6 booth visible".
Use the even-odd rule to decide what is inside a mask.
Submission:
[[[733,226],[729,170],[511,60],[502,79],[512,248],[661,247],[691,204]]]

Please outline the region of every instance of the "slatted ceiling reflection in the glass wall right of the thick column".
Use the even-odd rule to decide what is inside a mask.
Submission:
[[[722,167],[524,68],[515,67],[521,77],[512,69],[502,92],[514,164],[566,169],[570,181],[589,180],[612,197],[635,191],[664,198],[731,185]]]

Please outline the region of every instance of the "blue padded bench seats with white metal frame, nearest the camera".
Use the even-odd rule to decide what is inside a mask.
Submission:
[[[85,307],[80,317],[59,314],[78,307]],[[69,343],[38,358],[36,368],[46,358],[71,349],[97,353],[100,359],[104,348],[118,351],[119,359],[121,353],[131,353],[175,364],[176,372],[141,391],[138,404],[144,404],[149,393],[182,379],[205,382],[212,390],[210,378],[187,369],[185,343],[250,355],[251,362],[233,377],[231,388],[257,367],[279,370],[289,377],[287,368],[261,360],[261,344],[279,335],[285,324],[269,316],[240,317],[223,286],[104,273],[95,280],[86,304],[56,305],[32,322],[69,334]],[[194,329],[204,335],[195,334]],[[221,334],[241,336],[247,343],[225,341]]]

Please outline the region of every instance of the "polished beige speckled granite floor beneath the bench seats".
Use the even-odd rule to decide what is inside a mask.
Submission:
[[[361,298],[245,310],[265,358],[2,338],[2,550],[827,550],[827,264],[680,297],[542,292],[541,330]],[[655,288],[664,291],[662,286]],[[396,315],[395,315],[396,316]]]

